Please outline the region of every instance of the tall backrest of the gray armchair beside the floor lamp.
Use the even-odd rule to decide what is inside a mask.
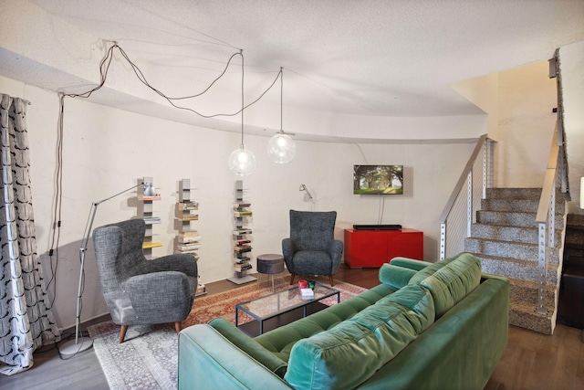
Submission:
[[[146,261],[142,250],[145,231],[143,219],[130,219],[93,230],[93,247],[104,294],[118,290],[123,280],[140,273],[140,264]]]

